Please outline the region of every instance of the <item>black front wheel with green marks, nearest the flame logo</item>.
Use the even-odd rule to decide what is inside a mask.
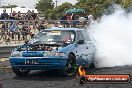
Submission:
[[[76,57],[73,54],[69,54],[68,61],[65,69],[63,69],[63,76],[69,77],[76,73],[77,64]]]

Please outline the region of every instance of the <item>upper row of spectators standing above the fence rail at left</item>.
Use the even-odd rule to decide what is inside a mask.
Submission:
[[[6,10],[3,10],[3,13],[0,16],[1,20],[19,20],[19,23],[22,23],[23,27],[26,26],[26,24],[28,23],[28,20],[32,20],[32,24],[33,27],[36,26],[36,21],[38,18],[38,15],[36,13],[34,13],[34,10],[30,11],[28,10],[27,13],[21,13],[20,11],[18,11],[18,13],[16,11],[13,11],[12,13],[10,13],[10,15],[8,15],[8,13],[6,13]],[[11,25],[13,24],[14,21],[10,22]],[[4,22],[3,22],[4,23]],[[5,28],[5,24],[3,24],[3,29]]]

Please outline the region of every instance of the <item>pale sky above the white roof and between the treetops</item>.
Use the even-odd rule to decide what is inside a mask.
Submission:
[[[34,8],[34,5],[37,3],[38,0],[0,0],[2,5],[14,5],[17,6],[25,6],[27,8]],[[53,0],[54,2],[56,0]],[[61,5],[64,2],[70,2],[72,4],[75,4],[77,0],[58,0],[58,5]]]

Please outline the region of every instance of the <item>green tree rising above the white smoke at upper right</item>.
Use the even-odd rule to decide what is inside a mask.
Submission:
[[[85,9],[87,13],[93,14],[98,17],[101,16],[104,11],[108,11],[108,8],[112,4],[119,4],[123,8],[132,6],[132,0],[77,0],[78,3],[75,7]],[[111,13],[111,12],[109,12]]]

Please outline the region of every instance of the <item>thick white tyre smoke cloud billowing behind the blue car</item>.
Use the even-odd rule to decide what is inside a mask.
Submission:
[[[132,13],[116,6],[89,30],[96,40],[97,67],[132,65]]]

